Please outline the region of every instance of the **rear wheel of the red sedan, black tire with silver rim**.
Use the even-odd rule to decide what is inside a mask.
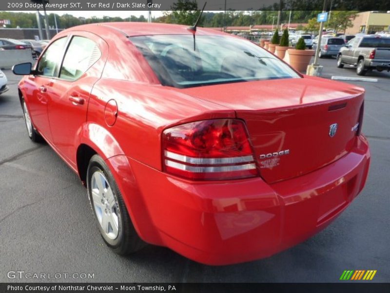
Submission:
[[[145,246],[133,226],[114,176],[98,155],[88,165],[87,191],[98,230],[108,247],[117,254],[127,255]]]

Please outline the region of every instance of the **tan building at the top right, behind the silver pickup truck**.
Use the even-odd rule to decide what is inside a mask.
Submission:
[[[361,12],[357,14],[352,23],[353,26],[346,29],[346,34],[388,32],[390,30],[390,11],[388,13]]]

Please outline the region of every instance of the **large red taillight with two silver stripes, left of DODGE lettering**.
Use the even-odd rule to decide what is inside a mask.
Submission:
[[[164,130],[164,171],[191,180],[227,180],[258,175],[241,120],[214,119]]]

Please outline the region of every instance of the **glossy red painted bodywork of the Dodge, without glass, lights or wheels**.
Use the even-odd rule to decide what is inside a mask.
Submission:
[[[52,42],[86,37],[98,45],[98,61],[73,82],[30,75],[19,84],[34,126],[70,167],[79,173],[84,145],[106,160],[144,241],[212,265],[267,257],[325,228],[364,187],[370,150],[351,131],[362,88],[307,76],[162,86],[127,38],[150,34],[191,32],[156,23],[74,27]],[[191,181],[163,171],[165,129],[228,118],[245,123],[260,176]],[[271,165],[260,159],[285,149]]]

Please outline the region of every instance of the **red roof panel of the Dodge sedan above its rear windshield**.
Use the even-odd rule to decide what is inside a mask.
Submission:
[[[105,29],[102,29],[105,28]],[[66,31],[90,31],[98,34],[104,34],[107,32],[107,29],[115,30],[121,32],[127,37],[134,36],[145,36],[145,35],[187,35],[192,34],[188,30],[188,25],[179,25],[179,24],[167,24],[167,23],[155,23],[155,22],[102,22],[102,23],[91,23],[74,26],[69,28]],[[108,33],[108,32],[107,32]],[[202,27],[197,27],[197,35],[225,35],[225,33],[207,29]]]

